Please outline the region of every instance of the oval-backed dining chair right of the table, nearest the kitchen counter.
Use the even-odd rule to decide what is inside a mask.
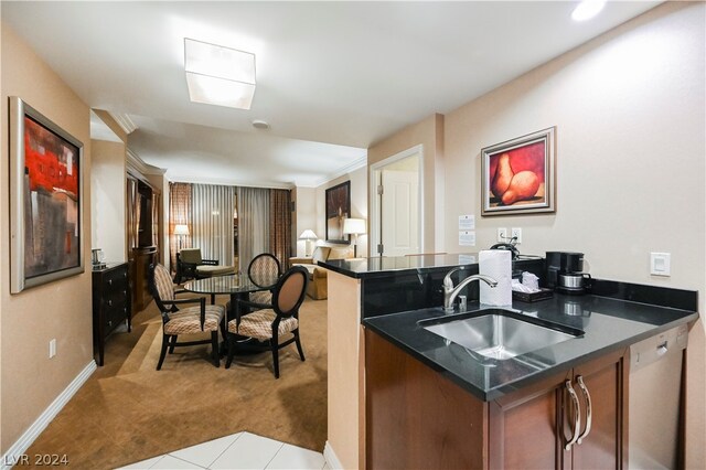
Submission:
[[[264,342],[264,350],[272,352],[272,366],[275,378],[279,378],[279,350],[291,344],[297,344],[297,351],[302,361],[304,352],[299,339],[299,307],[304,301],[309,271],[301,266],[295,266],[285,273],[272,291],[270,305],[255,303],[247,300],[237,300],[238,305],[246,308],[257,307],[260,310],[240,316],[242,308],[236,308],[235,319],[228,322],[228,359],[225,367],[231,367],[237,342],[242,337],[254,338]],[[291,333],[291,338],[279,342],[282,335]]]

